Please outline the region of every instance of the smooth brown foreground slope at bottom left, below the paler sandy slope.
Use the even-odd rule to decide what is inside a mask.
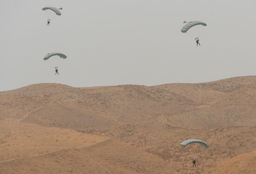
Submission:
[[[108,139],[88,147],[9,161],[2,164],[2,171],[12,174],[168,174],[173,167],[159,157]]]

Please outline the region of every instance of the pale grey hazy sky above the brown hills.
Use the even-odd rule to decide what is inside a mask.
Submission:
[[[47,6],[62,15],[42,11]],[[254,75],[255,11],[256,0],[0,0],[0,91]],[[181,33],[184,20],[207,23],[199,27],[202,47],[198,27]],[[44,61],[51,52],[67,59]]]

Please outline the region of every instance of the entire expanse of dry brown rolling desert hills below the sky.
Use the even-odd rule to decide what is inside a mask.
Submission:
[[[181,147],[186,139],[209,144]],[[192,157],[197,167],[192,167]],[[0,174],[255,174],[256,76],[0,92]]]

